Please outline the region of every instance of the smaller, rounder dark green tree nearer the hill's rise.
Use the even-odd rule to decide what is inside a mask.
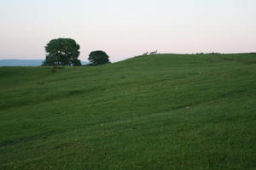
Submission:
[[[104,51],[97,50],[90,52],[88,59],[90,61],[90,65],[103,65],[109,63],[108,58],[108,54],[106,54]]]

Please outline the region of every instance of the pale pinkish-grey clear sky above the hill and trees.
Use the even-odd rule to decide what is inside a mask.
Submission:
[[[79,59],[159,53],[256,52],[256,0],[0,0],[0,59],[45,59],[73,38]]]

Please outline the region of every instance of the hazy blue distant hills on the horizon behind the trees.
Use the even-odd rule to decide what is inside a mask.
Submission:
[[[0,59],[0,66],[40,66],[44,59]],[[82,61],[82,65],[88,62]]]

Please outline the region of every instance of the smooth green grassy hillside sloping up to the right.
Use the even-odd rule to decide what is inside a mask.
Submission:
[[[0,169],[256,169],[256,54],[0,68]]]

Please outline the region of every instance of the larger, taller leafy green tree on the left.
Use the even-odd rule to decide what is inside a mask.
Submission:
[[[45,47],[46,59],[43,65],[81,65],[79,44],[71,38],[53,39]]]

